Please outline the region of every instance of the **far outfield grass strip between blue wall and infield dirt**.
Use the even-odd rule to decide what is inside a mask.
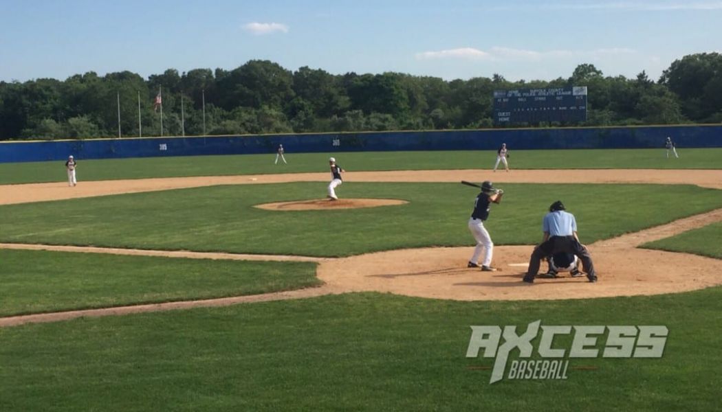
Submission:
[[[720,169],[722,149],[679,149],[679,159],[666,159],[665,149],[514,150],[512,169]],[[77,159],[79,182],[239,175],[259,173],[326,172],[329,156],[347,170],[492,169],[496,151],[463,152],[334,152],[288,153],[288,165],[274,165],[275,154],[152,157],[135,159]],[[64,161],[1,163],[0,184],[66,181]]]

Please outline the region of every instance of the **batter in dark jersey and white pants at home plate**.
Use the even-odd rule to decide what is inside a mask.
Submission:
[[[489,218],[489,209],[491,209],[491,203],[499,203],[504,191],[495,189],[494,185],[490,181],[482,183],[482,191],[474,201],[474,211],[471,212],[469,218],[469,231],[471,235],[474,235],[474,239],[477,240],[477,247],[474,247],[474,255],[471,255],[471,260],[466,265],[467,268],[478,268],[479,258],[484,253],[484,260],[482,260],[482,271],[494,272],[496,268],[492,268],[492,255],[494,254],[494,242],[489,236],[489,232],[484,227],[484,221]]]

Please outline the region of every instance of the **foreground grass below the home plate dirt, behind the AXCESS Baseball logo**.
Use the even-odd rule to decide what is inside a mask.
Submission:
[[[713,411],[721,302],[722,288],[554,302],[368,293],[3,328],[0,410]],[[470,325],[539,319],[666,325],[669,339],[661,359],[571,359],[597,369],[567,380],[490,385],[469,369],[493,363],[466,359]]]

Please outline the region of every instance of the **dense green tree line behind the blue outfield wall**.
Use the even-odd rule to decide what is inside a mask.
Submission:
[[[568,86],[588,87],[587,120],[579,126],[722,122],[719,53],[684,56],[657,81],[645,71],[632,79],[604,76],[588,63],[568,78],[510,82],[500,74],[452,81],[393,72],[334,75],[253,60],[230,71],[168,69],[148,79],[90,71],[65,81],[0,82],[0,140],[117,136],[118,100],[122,136],[138,136],[139,126],[144,136],[159,136],[153,102],[161,88],[163,134],[179,136],[490,128],[494,90]]]

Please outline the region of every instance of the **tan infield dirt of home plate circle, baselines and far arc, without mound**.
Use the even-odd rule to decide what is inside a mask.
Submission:
[[[686,183],[712,188],[722,188],[722,171],[717,170],[580,170],[571,175],[562,170],[513,171],[497,173],[495,182],[545,183]],[[660,179],[662,173],[669,181]],[[477,180],[491,178],[492,173],[475,170]],[[539,175],[536,175],[539,173]],[[364,174],[364,181],[458,181],[459,171],[425,172],[374,172]],[[466,173],[469,177],[471,173]],[[561,176],[566,180],[561,180]],[[571,177],[570,177],[571,176]],[[648,177],[647,178],[645,177]],[[325,175],[324,175],[325,177]],[[354,174],[357,178],[357,174]],[[370,179],[375,180],[370,180]],[[256,178],[256,177],[253,177]],[[300,181],[300,175],[269,175],[264,180],[273,183]],[[473,176],[472,176],[473,178]],[[168,184],[165,179],[130,180],[129,191],[165,190],[169,188],[236,183],[271,183],[250,180],[249,177],[193,177],[183,178],[178,185]],[[286,179],[286,180],[284,180]],[[357,181],[361,181],[358,179]],[[468,179],[467,179],[468,180]],[[124,181],[90,182],[82,196],[100,196],[122,193]],[[190,183],[193,183],[189,186]],[[90,187],[97,188],[91,190]],[[77,188],[81,188],[79,185]],[[6,188],[12,190],[6,191]],[[30,199],[50,200],[53,196],[69,198],[64,193],[77,188],[61,187],[57,183],[39,185],[0,186],[2,203],[22,203]],[[155,188],[155,189],[154,189]],[[59,193],[59,195],[58,195]],[[94,194],[95,193],[95,194]],[[348,199],[351,200],[351,199]],[[369,200],[369,199],[365,199]],[[332,203],[329,201],[323,201]],[[191,302],[169,302],[100,310],[78,310],[50,314],[23,315],[0,318],[0,326],[33,322],[52,322],[82,316],[122,315],[126,313],[175,310],[186,307],[222,306],[242,302],[265,302],[277,299],[298,299],[323,294],[345,292],[390,292],[414,297],[456,300],[521,300],[521,299],[583,299],[684,292],[722,284],[722,260],[704,258],[684,253],[659,250],[643,250],[638,246],[653,240],[676,235],[697,227],[722,221],[722,209],[679,219],[640,232],[623,235],[588,245],[596,266],[599,282],[588,283],[586,278],[562,277],[559,279],[536,279],[534,284],[524,284],[521,276],[526,271],[533,246],[500,246],[494,249],[493,265],[497,272],[482,272],[466,268],[472,247],[432,247],[412,250],[392,250],[381,253],[352,256],[349,258],[307,258],[302,256],[236,255],[232,253],[194,253],[186,251],[126,250],[103,247],[71,247],[48,245],[0,244],[2,248],[64,250],[69,252],[118,253],[124,255],[162,255],[183,258],[254,259],[254,260],[305,260],[319,263],[318,277],[326,284],[318,288],[292,292],[277,292],[246,297],[206,299]],[[464,225],[464,216],[459,216]],[[583,233],[581,234],[583,239]],[[493,234],[492,234],[493,237]],[[471,235],[469,235],[471,241]],[[542,271],[545,264],[542,263]]]

